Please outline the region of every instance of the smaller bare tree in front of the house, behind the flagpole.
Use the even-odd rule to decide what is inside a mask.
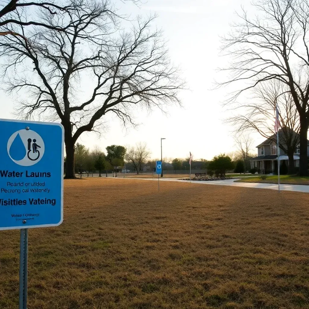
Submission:
[[[241,105],[242,113],[231,117],[228,122],[236,126],[238,133],[256,131],[277,144],[274,129],[276,106],[278,105],[279,147],[289,157],[289,174],[294,174],[294,153],[299,144],[299,115],[292,95],[286,85],[270,81],[261,84],[255,91],[255,102]]]

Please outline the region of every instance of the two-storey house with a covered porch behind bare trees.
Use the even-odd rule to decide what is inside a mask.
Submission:
[[[279,138],[280,132],[279,130]],[[293,134],[297,134],[296,132],[293,132]],[[282,138],[282,136],[281,136]],[[276,170],[277,165],[277,135],[273,134],[271,137],[267,138],[264,142],[262,142],[260,145],[256,146],[257,148],[257,157],[250,159],[251,168],[256,168],[260,170],[262,174],[269,174],[273,173]],[[309,141],[307,143],[307,150],[309,153]],[[280,166],[282,164],[285,164],[286,166],[289,165],[289,158],[287,154],[284,152],[283,149],[279,149],[279,159],[280,159]],[[299,167],[299,144],[296,147],[295,153],[294,153],[294,166]]]

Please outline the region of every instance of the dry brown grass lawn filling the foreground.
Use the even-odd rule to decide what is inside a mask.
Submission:
[[[309,195],[149,180],[65,181],[61,226],[29,231],[28,309],[309,308]],[[0,308],[19,231],[0,231]]]

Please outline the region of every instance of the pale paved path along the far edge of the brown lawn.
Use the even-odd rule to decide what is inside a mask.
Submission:
[[[126,179],[139,179],[139,180],[151,180],[152,181],[152,178],[126,178]],[[239,178],[236,178],[236,179],[239,179]],[[157,180],[157,179],[155,178],[155,180]],[[190,180],[180,180],[180,179],[175,179],[175,178],[160,178],[160,181],[190,182]],[[235,178],[234,179],[228,179],[228,180],[214,180],[214,181],[192,180],[192,183],[193,184],[210,184],[210,185],[219,185],[219,186],[233,186],[233,187],[278,190],[278,184],[259,184],[259,183],[251,183],[251,182],[235,182]],[[309,185],[306,186],[306,185],[301,185],[301,184],[280,184],[280,190],[309,193]]]

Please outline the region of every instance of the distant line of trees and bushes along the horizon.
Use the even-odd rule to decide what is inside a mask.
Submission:
[[[245,173],[250,171],[250,153],[252,140],[248,137],[236,139],[237,150],[228,155],[221,154],[215,156],[212,160],[199,159],[192,160],[192,170],[205,170],[210,175],[224,176],[225,173]],[[111,145],[106,147],[106,152],[102,151],[99,146],[92,150],[86,146],[76,143],[74,147],[74,168],[75,173],[82,177],[87,177],[93,173],[98,173],[99,177],[105,172],[113,173],[117,177],[117,172],[152,172],[155,171],[156,161],[159,159],[150,159],[151,152],[145,142],[139,142],[135,146]],[[189,171],[189,157],[181,158],[163,158],[163,170]]]

